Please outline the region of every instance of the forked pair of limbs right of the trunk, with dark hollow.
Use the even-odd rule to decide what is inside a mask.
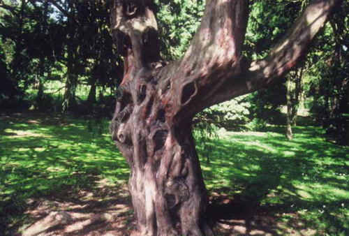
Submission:
[[[207,1],[202,24],[188,52],[163,71],[174,94],[181,94],[174,102],[176,117],[195,115],[283,77],[306,54],[311,40],[340,1],[311,1],[267,57],[252,64],[241,56],[248,1]],[[167,83],[165,80],[163,86]]]

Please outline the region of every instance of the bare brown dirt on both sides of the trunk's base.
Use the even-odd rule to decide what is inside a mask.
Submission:
[[[315,230],[299,226],[297,214],[283,223],[262,207],[239,198],[214,194],[208,215],[215,235],[314,235]],[[103,179],[94,191],[61,200],[29,201],[32,223],[22,236],[138,236],[131,197],[126,184],[114,186]]]

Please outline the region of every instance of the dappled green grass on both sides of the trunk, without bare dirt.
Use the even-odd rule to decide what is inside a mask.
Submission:
[[[6,115],[1,115],[4,117]],[[110,140],[108,121],[98,126],[59,114],[8,114],[0,119],[0,235],[29,223],[29,200],[73,198],[96,188],[96,179],[123,184],[128,166]],[[89,129],[94,132],[89,132]],[[348,147],[325,142],[318,127],[265,132],[219,131],[210,163],[202,170],[210,193],[273,216],[273,232],[286,235],[292,222],[319,235],[348,235]],[[202,147],[198,147],[200,156]],[[239,210],[239,209],[237,209]],[[2,230],[2,231],[1,231]]]

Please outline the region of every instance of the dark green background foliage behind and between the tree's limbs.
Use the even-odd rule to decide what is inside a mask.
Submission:
[[[166,60],[179,59],[200,25],[205,1],[157,0],[156,3],[161,55]],[[307,3],[306,0],[251,1],[244,55],[253,60],[265,57]],[[299,65],[304,69],[304,92],[299,102],[306,105],[329,133],[336,136],[339,132],[341,140],[346,140],[344,124],[348,119],[343,115],[348,110],[347,12],[348,3],[336,9],[324,29],[325,34],[318,36],[306,61]],[[68,109],[67,99],[71,99],[71,103],[84,107],[82,110],[105,108],[98,101],[101,98],[106,103],[103,100],[106,91],[110,94],[116,91],[124,70],[122,57],[110,36],[105,1],[5,0],[1,1],[0,23],[2,101],[35,98],[35,108],[61,110],[61,103],[66,101]],[[47,91],[52,82],[61,85]],[[66,89],[65,95],[62,87]],[[84,98],[76,95],[82,87],[86,88]],[[61,95],[50,94],[56,91]],[[250,128],[266,123],[285,124],[279,115],[285,105],[283,80],[276,87],[214,105],[200,115],[200,120],[209,120],[217,126],[250,124]]]

